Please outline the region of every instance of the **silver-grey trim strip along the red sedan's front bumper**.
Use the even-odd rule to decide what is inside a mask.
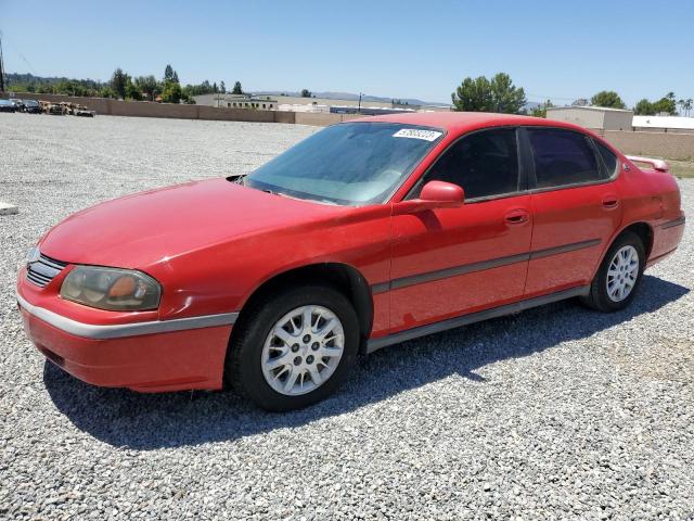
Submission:
[[[184,331],[187,329],[211,328],[215,326],[230,326],[239,318],[237,313],[222,313],[219,315],[204,315],[200,317],[176,318],[172,320],[153,320],[149,322],[118,323],[110,326],[98,326],[83,323],[63,317],[43,307],[29,304],[17,293],[17,303],[28,314],[65,331],[66,333],[93,340],[123,339],[126,336],[138,336],[141,334],[170,333],[174,331]]]

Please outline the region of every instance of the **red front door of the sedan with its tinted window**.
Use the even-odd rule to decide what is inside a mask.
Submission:
[[[516,129],[462,137],[407,199],[432,180],[461,186],[465,204],[394,215],[391,333],[523,297],[532,217]]]

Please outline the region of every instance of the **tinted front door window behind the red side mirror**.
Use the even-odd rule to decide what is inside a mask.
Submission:
[[[452,182],[465,199],[518,191],[518,147],[512,128],[483,130],[466,136],[441,154],[420,182]],[[417,196],[420,190],[414,196]]]

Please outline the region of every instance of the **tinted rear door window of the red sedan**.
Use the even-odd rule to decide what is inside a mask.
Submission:
[[[604,178],[588,137],[556,128],[529,128],[537,188],[562,187]]]

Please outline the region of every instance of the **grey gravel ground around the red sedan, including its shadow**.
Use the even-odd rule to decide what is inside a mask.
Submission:
[[[628,310],[560,303],[411,341],[293,414],[93,387],[26,340],[16,266],[50,226],[312,131],[0,114],[0,200],[20,205],[0,216],[0,518],[694,519],[692,226]]]

